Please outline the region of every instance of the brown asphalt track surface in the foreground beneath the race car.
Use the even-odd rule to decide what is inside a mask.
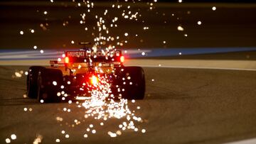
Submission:
[[[17,139],[11,143],[33,143],[36,135],[42,135],[43,143],[55,143],[56,138],[60,143],[228,143],[256,137],[255,71],[144,67],[146,98],[134,104],[129,101],[129,109],[144,119],[137,126],[146,133],[124,131],[110,138],[107,131],[122,120],[112,118],[99,126],[98,120],[85,119],[85,109],[75,104],[24,99],[26,78],[11,75],[27,69],[0,67],[0,143],[12,133]],[[25,107],[33,111],[24,111]],[[71,112],[63,112],[64,107]],[[63,117],[63,122],[56,121],[56,116]],[[72,128],[75,118],[82,123]],[[90,123],[97,133],[83,138]],[[64,138],[62,130],[70,138]]]

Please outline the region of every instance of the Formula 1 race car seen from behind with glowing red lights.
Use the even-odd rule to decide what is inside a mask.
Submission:
[[[97,89],[119,99],[143,99],[144,70],[123,62],[121,50],[66,51],[63,60],[50,60],[50,67],[29,68],[27,95],[41,103],[57,102],[90,98]]]

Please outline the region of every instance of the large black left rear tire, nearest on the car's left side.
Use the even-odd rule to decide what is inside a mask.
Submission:
[[[63,73],[61,70],[44,69],[39,71],[37,91],[38,101],[41,103],[60,101],[61,85],[63,85]]]

